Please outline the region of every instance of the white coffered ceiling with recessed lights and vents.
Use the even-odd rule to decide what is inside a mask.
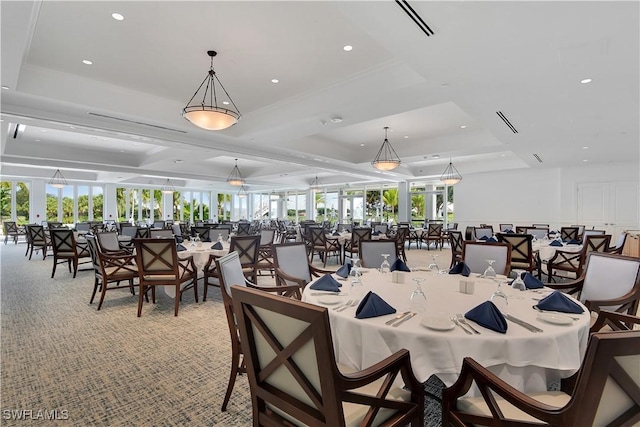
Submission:
[[[400,3],[3,0],[2,175],[224,191],[235,158],[250,190],[638,162],[637,1],[411,0],[430,37]],[[243,114],[220,132],[180,114],[207,50]]]

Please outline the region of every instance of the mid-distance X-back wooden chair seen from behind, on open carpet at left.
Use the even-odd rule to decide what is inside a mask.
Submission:
[[[156,286],[175,286],[174,316],[178,315],[182,294],[193,289],[198,302],[198,272],[193,256],[178,259],[175,239],[136,239],[136,264],[140,292],[138,293],[138,317],[142,314],[142,300],[151,290],[156,303]]]

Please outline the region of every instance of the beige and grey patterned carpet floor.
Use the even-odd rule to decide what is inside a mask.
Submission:
[[[52,257],[29,261],[25,249],[0,245],[3,426],[251,425],[245,377],[220,411],[231,348],[217,288],[205,303],[185,294],[178,317],[162,292],[140,318],[127,290],[107,292],[96,311],[91,271],[72,279],[61,265],[51,279]],[[441,384],[425,387],[439,395]],[[426,426],[441,425],[429,395],[425,412]]]

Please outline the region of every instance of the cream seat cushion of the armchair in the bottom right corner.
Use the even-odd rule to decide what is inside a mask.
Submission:
[[[539,419],[534,418],[531,415],[527,414],[526,412],[521,411],[520,409],[516,408],[515,406],[507,402],[506,400],[501,399],[498,395],[494,394],[494,396],[496,397],[496,402],[498,403],[498,406],[502,410],[502,413],[504,414],[505,418],[520,420],[520,421],[540,422]],[[557,408],[562,408],[569,402],[569,399],[571,399],[570,395],[565,394],[561,391],[533,393],[533,394],[528,394],[528,396],[537,400],[540,403],[555,406]],[[491,411],[489,410],[489,407],[486,405],[486,403],[484,402],[484,399],[481,396],[466,397],[463,399],[458,399],[457,408],[459,411],[467,414],[483,415],[487,417],[492,416]]]

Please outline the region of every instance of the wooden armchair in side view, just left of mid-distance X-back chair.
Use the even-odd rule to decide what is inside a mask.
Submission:
[[[98,249],[98,243],[94,235],[87,235],[87,247],[91,255],[94,270],[93,292],[89,304],[93,304],[98,291],[100,301],[98,310],[102,308],[104,297],[109,290],[128,288],[131,295],[136,294],[134,280],[138,278],[138,266],[133,254],[107,254]],[[121,285],[121,282],[127,283]],[[147,302],[149,299],[147,298]]]

